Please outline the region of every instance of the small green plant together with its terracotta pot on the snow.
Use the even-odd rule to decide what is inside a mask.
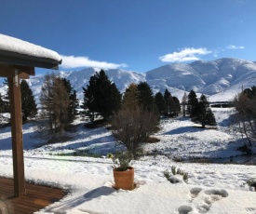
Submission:
[[[118,152],[112,158],[115,189],[134,189],[134,167],[130,167],[133,155],[128,152]]]

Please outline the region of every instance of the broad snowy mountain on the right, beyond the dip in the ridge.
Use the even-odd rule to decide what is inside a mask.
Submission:
[[[213,61],[197,60],[190,64],[168,64],[146,73],[146,81],[155,90],[174,87],[195,90],[209,96],[211,101],[232,100],[241,88],[256,85],[256,63],[249,60],[223,58]]]

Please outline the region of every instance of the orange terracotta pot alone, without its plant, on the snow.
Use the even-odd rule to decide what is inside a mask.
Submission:
[[[127,171],[116,171],[113,169],[115,189],[134,189],[134,168],[128,167]]]

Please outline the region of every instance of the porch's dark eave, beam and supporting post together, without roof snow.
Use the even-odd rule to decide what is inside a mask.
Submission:
[[[0,77],[7,77],[9,87],[14,196],[18,198],[26,194],[20,79],[28,79],[30,75],[34,75],[34,67],[58,69],[59,64],[61,64],[61,60],[36,57],[11,50],[0,49]],[[0,214],[1,213],[0,204]]]

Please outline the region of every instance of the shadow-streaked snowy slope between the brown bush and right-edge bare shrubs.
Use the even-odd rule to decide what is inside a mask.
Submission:
[[[163,120],[156,134],[160,142],[146,145],[146,150],[179,159],[227,158],[241,155],[236,148],[242,145],[241,136],[230,126],[233,108],[213,108],[218,128],[200,128],[189,118]]]

